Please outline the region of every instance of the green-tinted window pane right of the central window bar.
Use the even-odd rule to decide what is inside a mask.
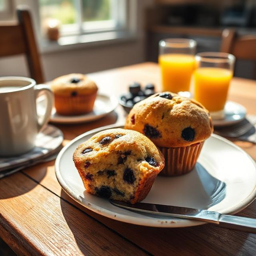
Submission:
[[[82,0],[82,20],[99,21],[111,19],[111,0]]]

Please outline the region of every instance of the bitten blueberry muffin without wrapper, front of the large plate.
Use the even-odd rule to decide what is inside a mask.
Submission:
[[[110,129],[79,145],[74,164],[86,191],[132,204],[143,200],[164,168],[164,157],[139,132]]]

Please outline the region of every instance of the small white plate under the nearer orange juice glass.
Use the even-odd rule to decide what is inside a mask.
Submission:
[[[220,120],[212,120],[214,126],[228,126],[240,122],[246,116],[246,108],[236,102],[227,101],[225,108],[225,117]]]

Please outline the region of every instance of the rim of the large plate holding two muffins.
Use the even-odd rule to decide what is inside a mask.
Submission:
[[[171,219],[170,220],[170,218],[167,218],[167,219],[162,219],[162,218],[158,219],[158,218],[156,218],[156,220],[150,220],[149,221],[148,219],[134,217],[134,216],[129,216],[129,218],[127,218],[126,215],[116,213],[116,212],[112,212],[112,211],[107,210],[105,208],[102,208],[100,206],[96,206],[96,205],[92,206],[92,204],[90,202],[87,202],[86,199],[82,198],[81,195],[77,196],[77,194],[73,193],[72,189],[69,188],[68,184],[66,184],[66,182],[62,178],[60,168],[59,168],[60,159],[61,159],[62,155],[64,154],[64,152],[74,142],[76,142],[77,140],[80,140],[84,136],[88,136],[89,134],[92,134],[92,133],[95,133],[95,132],[100,132],[100,131],[106,130],[106,129],[122,128],[122,127],[124,127],[123,123],[117,123],[117,124],[111,124],[111,125],[108,125],[108,126],[102,126],[102,127],[99,127],[99,128],[93,129],[93,130],[89,130],[89,131],[87,131],[83,134],[80,134],[79,136],[77,136],[73,140],[71,140],[68,144],[66,144],[66,146],[64,146],[64,148],[62,148],[62,150],[60,150],[60,152],[59,152],[59,154],[56,158],[54,167],[55,167],[56,178],[57,178],[60,186],[62,187],[62,189],[66,192],[66,194],[68,194],[68,196],[73,198],[76,202],[78,202],[82,206],[88,208],[89,210],[92,210],[93,212],[96,212],[97,214],[100,214],[100,215],[105,216],[107,218],[111,218],[113,220],[118,220],[118,221],[121,221],[121,222],[130,223],[130,224],[136,224],[136,225],[140,225],[140,226],[162,227],[162,228],[181,228],[181,227],[198,226],[198,225],[207,224],[206,222],[200,222],[200,221],[196,221],[196,220],[184,220],[184,219],[181,219],[181,220],[179,220],[179,219],[172,220]],[[256,162],[242,148],[240,148],[239,146],[237,146],[236,144],[234,144],[230,140],[227,140],[226,138],[223,138],[222,136],[219,136],[217,134],[212,134],[211,136],[214,137],[214,138],[217,138],[219,140],[222,140],[222,141],[228,143],[231,146],[234,146],[241,153],[246,155],[252,161],[252,163],[254,164],[255,170],[256,170]],[[242,200],[241,202],[239,202],[238,204],[236,204],[232,208],[230,208],[226,211],[220,212],[220,213],[221,214],[230,214],[230,215],[236,214],[237,212],[240,212],[241,210],[246,208],[249,204],[251,204],[254,201],[255,198],[256,198],[256,186],[254,187],[254,190],[252,190],[250,195],[248,195],[244,200]]]

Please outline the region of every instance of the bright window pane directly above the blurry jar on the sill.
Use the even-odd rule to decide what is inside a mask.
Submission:
[[[76,0],[39,0],[41,22],[57,19],[64,24],[74,24],[77,20]]]

